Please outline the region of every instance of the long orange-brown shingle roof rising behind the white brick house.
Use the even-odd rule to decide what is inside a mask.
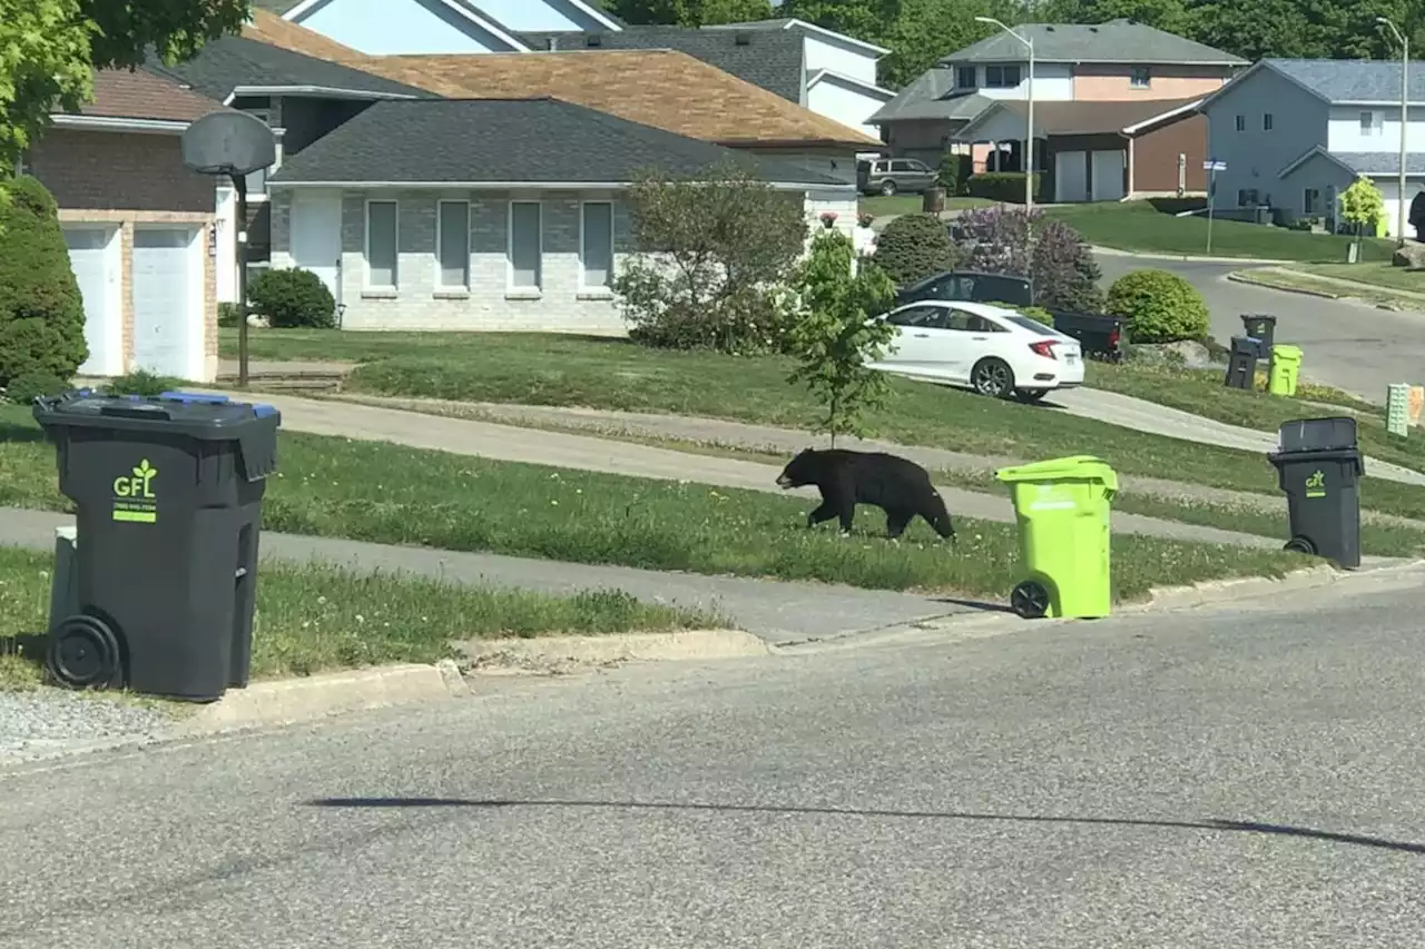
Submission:
[[[348,56],[450,98],[549,95],[720,145],[879,145],[869,135],[671,50]]]

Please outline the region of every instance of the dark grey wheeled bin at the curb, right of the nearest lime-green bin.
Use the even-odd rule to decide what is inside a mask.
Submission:
[[[1354,570],[1361,566],[1361,494],[1365,462],[1355,419],[1332,416],[1287,422],[1267,457],[1287,494],[1287,550]]]

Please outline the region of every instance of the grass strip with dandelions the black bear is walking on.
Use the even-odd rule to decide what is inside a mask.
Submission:
[[[54,457],[27,413],[0,409],[0,506],[63,509]],[[1019,579],[1013,524],[958,520],[939,541],[919,520],[901,543],[862,513],[856,533],[807,530],[815,502],[536,465],[422,452],[379,442],[282,433],[268,530],[446,550],[703,574],[821,580],[886,590],[1003,597]],[[1149,537],[1114,537],[1114,588],[1224,576],[1277,576],[1301,559]]]

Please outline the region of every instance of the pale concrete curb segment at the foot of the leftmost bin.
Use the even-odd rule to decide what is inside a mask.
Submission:
[[[252,683],[202,705],[178,727],[180,735],[289,725],[369,708],[463,698],[470,694],[450,660],[322,673],[305,678]]]

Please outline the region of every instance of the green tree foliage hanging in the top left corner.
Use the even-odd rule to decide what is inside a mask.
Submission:
[[[78,111],[94,68],[128,68],[155,48],[168,63],[237,33],[248,0],[0,0],[0,160],[16,158],[51,111]]]

